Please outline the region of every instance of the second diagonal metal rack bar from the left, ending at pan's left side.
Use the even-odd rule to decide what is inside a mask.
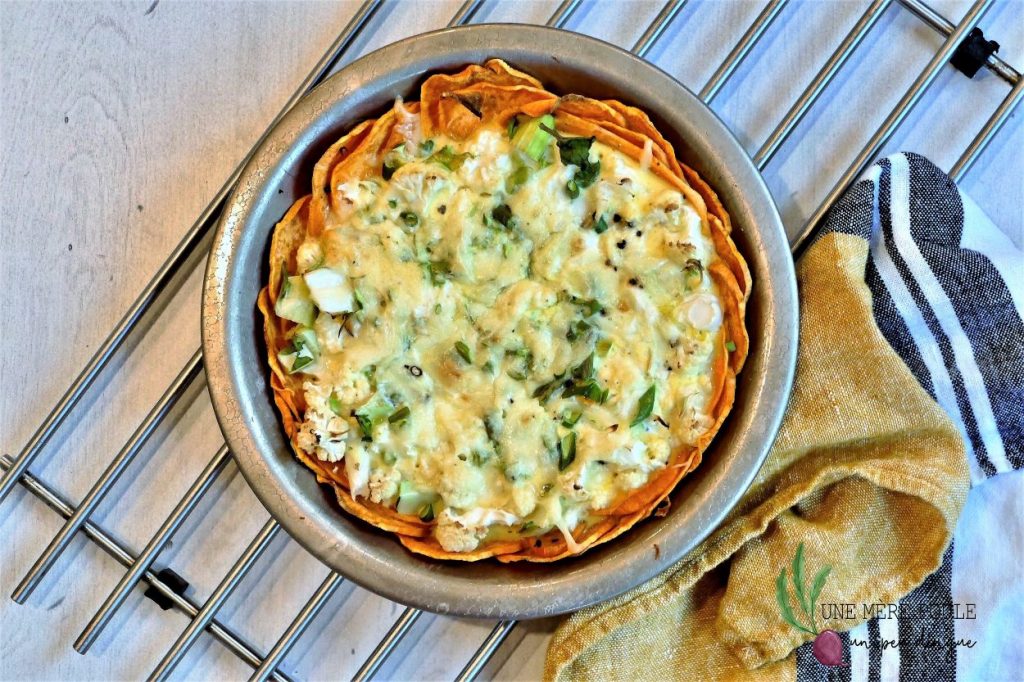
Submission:
[[[89,488],[88,494],[82,500],[82,503],[78,506],[78,509],[72,514],[72,517],[68,519],[63,527],[60,528],[59,532],[53,537],[50,544],[43,550],[43,553],[39,555],[36,562],[26,573],[25,578],[14,589],[11,594],[11,599],[13,599],[18,604],[24,604],[26,599],[32,594],[32,592],[39,585],[43,577],[46,576],[47,571],[53,566],[57,557],[63,552],[68,545],[71,543],[75,534],[78,532],[82,524],[89,518],[89,515],[96,509],[96,506],[102,501],[106,493],[110,492],[114,483],[117,482],[121,474],[124,473],[128,465],[132,463],[135,456],[142,450],[142,445],[148,440],[150,436],[157,429],[167,413],[170,412],[171,408],[178,401],[181,395],[185,392],[185,389],[191,384],[193,380],[199,376],[200,370],[203,369],[202,354],[197,351],[193,354],[191,359],[185,364],[185,367],[178,373],[174,381],[164,392],[160,400],[153,407],[150,414],[146,415],[142,423],[138,425],[135,432],[132,433],[128,441],[125,442],[121,452],[111,461],[103,471],[102,475],[96,479],[96,482],[92,484]],[[13,469],[11,469],[13,470]]]

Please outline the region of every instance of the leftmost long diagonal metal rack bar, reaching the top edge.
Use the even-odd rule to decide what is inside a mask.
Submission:
[[[78,401],[82,399],[85,392],[89,390],[92,382],[96,380],[99,373],[102,372],[103,368],[111,361],[114,357],[114,353],[121,347],[121,345],[131,334],[135,326],[141,321],[142,316],[146,311],[153,306],[154,302],[160,296],[160,294],[167,289],[174,276],[177,274],[178,270],[188,261],[193,253],[202,245],[206,238],[210,235],[213,229],[213,225],[216,223],[217,218],[220,216],[220,211],[223,208],[224,202],[227,200],[227,195],[231,193],[234,188],[234,184],[238,182],[239,177],[242,175],[242,170],[249,163],[249,159],[256,153],[263,140],[266,139],[270,131],[273,130],[274,126],[285,117],[285,114],[295,105],[303,95],[306,94],[310,89],[315,87],[324,78],[331,72],[335,67],[338,59],[351,47],[352,42],[362,31],[362,28],[377,13],[380,8],[381,2],[383,0],[366,0],[359,9],[356,10],[355,15],[349,20],[349,23],[342,29],[341,33],[328,48],[324,56],[319,58],[316,65],[313,67],[312,71],[303,79],[299,87],[296,88],[292,96],[288,98],[285,105],[278,113],[273,120],[267,125],[266,130],[259,136],[256,142],[252,145],[252,148],[246,153],[242,161],[239,162],[238,167],[231,172],[227,180],[224,182],[223,186],[214,195],[213,199],[210,200],[209,205],[203,210],[193,226],[185,232],[185,236],[181,239],[171,255],[168,256],[164,264],[160,266],[157,273],[150,280],[150,283],[139,294],[135,302],[128,309],[128,312],[124,314],[121,321],[114,328],[114,331],[110,333],[106,339],[99,345],[96,352],[93,353],[92,357],[89,359],[88,364],[78,375],[72,385],[65,392],[63,396],[57,401],[50,413],[43,420],[43,423],[39,425],[36,432],[29,438],[29,442],[26,443],[22,452],[18,453],[17,458],[14,460],[14,466],[7,470],[7,473],[0,478],[0,504],[7,498],[7,495],[13,489],[14,484],[17,482],[17,478],[24,474],[29,466],[35,461],[39,454],[42,452],[46,443],[49,442],[50,438],[56,432],[60,425],[63,424],[65,420],[71,414]]]

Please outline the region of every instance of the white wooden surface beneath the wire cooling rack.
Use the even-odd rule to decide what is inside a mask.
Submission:
[[[489,5],[477,20],[543,23],[554,2]],[[598,2],[570,28],[632,45],[660,3]],[[354,11],[327,2],[0,2],[0,449],[15,455],[216,193],[250,144]],[[794,2],[722,91],[715,109],[752,151],[784,114],[864,2]],[[956,20],[966,3],[937,2]],[[401,2],[381,12],[351,54],[443,26],[457,2]],[[694,0],[649,58],[699,89],[749,23],[757,2]],[[1024,67],[1024,3],[1002,0],[982,23]],[[825,99],[765,176],[795,230],[884,119],[940,38],[891,8]],[[951,69],[887,146],[948,167],[1008,91],[991,74]],[[1021,115],[1010,121],[965,186],[1024,244]],[[33,471],[78,501],[199,344],[197,270],[136,335]],[[168,420],[95,519],[140,548],[221,439],[205,389]],[[203,599],[266,513],[230,465],[158,561]],[[0,507],[0,678],[135,679],[184,628],[137,591],[93,650],[71,643],[123,569],[77,539],[26,606],[6,595],[60,525],[18,488]],[[266,650],[326,574],[279,539],[221,619]],[[399,612],[343,587],[285,669],[299,678],[350,676]],[[487,671],[539,676],[553,624],[515,631]],[[443,679],[492,624],[424,616],[385,668],[394,679]],[[509,653],[511,652],[511,653]],[[205,637],[177,671],[195,679],[250,670]]]

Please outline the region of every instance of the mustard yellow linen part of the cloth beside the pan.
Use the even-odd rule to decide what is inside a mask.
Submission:
[[[967,498],[964,441],[876,325],[868,248],[833,232],[798,264],[795,389],[745,497],[679,564],[569,616],[548,679],[795,679],[794,649],[813,634],[780,613],[783,568],[796,620],[842,631],[864,620],[863,604],[894,603],[939,566]],[[806,590],[831,566],[818,601],[855,604],[854,617],[809,624],[792,576],[801,544]]]

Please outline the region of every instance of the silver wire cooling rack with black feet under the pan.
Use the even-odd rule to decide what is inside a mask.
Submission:
[[[892,109],[882,124],[871,133],[860,153],[850,162],[833,188],[826,194],[803,223],[803,227],[795,230],[792,246],[799,253],[807,238],[821,221],[831,204],[843,190],[876,159],[883,146],[890,140],[911,110],[919,103],[922,96],[935,82],[943,67],[953,60],[958,69],[970,71],[972,60],[975,66],[983,66],[998,76],[1010,86],[1010,92],[991,113],[974,139],[963,150],[948,173],[954,180],[961,180],[983,154],[992,138],[1013,114],[1020,103],[1024,80],[1021,74],[995,54],[989,54],[991,46],[980,36],[975,28],[989,9],[992,0],[978,0],[971,5],[958,24],[935,11],[920,0],[873,0],[863,14],[852,27],[846,37],[835,48],[835,51],[824,61],[817,74],[810,80],[803,92],[797,97],[781,121],[768,134],[765,141],[753,153],[752,158],[759,170],[764,171],[775,157],[776,153],[790,140],[792,133],[812,111],[821,95],[836,79],[851,55],[864,41],[865,37],[879,24],[887,11],[908,11],[921,22],[936,31],[943,39],[941,47],[935,51],[927,66],[913,80],[897,104]],[[306,93],[323,81],[345,58],[352,49],[360,34],[370,31],[379,18],[378,13],[383,0],[367,0],[358,11],[341,31],[324,56],[309,75],[299,84],[294,94],[282,109],[281,113],[267,127],[267,132]],[[741,35],[735,46],[729,51],[725,60],[713,73],[703,87],[699,97],[713,104],[723,86],[736,73],[757,43],[771,29],[775,18],[786,9],[787,0],[770,0]],[[460,26],[473,20],[484,5],[484,0],[469,0],[452,17],[449,26]],[[668,2],[654,17],[646,31],[632,47],[633,53],[645,57],[659,38],[677,17],[685,0]],[[565,28],[570,25],[572,15],[581,6],[581,0],[564,0],[548,20],[548,26]],[[264,136],[266,133],[264,133]],[[226,445],[219,449],[213,459],[180,499],[173,511],[166,518],[145,546],[138,552],[125,546],[111,531],[92,520],[97,506],[111,492],[119,477],[132,464],[136,456],[143,450],[146,441],[158,429],[162,421],[186,395],[190,395],[191,387],[202,369],[202,351],[197,350],[184,368],[180,371],[163,396],[150,411],[148,415],[138,425],[135,432],[124,443],[121,451],[109,463],[106,468],[96,478],[85,497],[77,504],[65,499],[51,483],[30,472],[30,467],[57,429],[75,411],[79,401],[87,394],[103,369],[111,363],[117,351],[125,344],[129,336],[139,326],[143,315],[154,307],[154,304],[167,292],[179,284],[179,273],[189,263],[195,262],[194,256],[201,254],[214,225],[220,215],[224,201],[237,182],[242,168],[253,152],[262,142],[263,136],[253,144],[238,168],[224,182],[221,189],[207,206],[195,224],[171,253],[170,257],[156,273],[142,291],[138,299],[125,313],[124,317],[110,333],[105,341],[82,370],[81,374],[65,393],[63,397],[52,408],[45,420],[29,439],[28,443],[16,458],[3,456],[0,465],[4,470],[0,479],[0,504],[8,497],[15,485],[22,485],[32,495],[44,502],[63,519],[60,530],[53,537],[49,545],[41,553],[22,582],[17,585],[12,598],[17,603],[24,603],[33,593],[40,581],[53,566],[58,557],[68,549],[69,544],[79,532],[84,534],[99,548],[122,564],[127,571],[117,587],[111,592],[102,605],[92,617],[85,630],[75,641],[77,651],[84,653],[96,641],[103,628],[110,623],[115,612],[121,607],[133,589],[139,584],[147,586],[145,595],[165,608],[176,608],[188,617],[188,625],[180,636],[167,650],[163,659],[153,671],[151,679],[163,680],[181,662],[184,654],[195,644],[197,639],[207,632],[222,643],[227,649],[253,668],[252,679],[289,680],[291,679],[280,667],[289,650],[306,633],[328,600],[344,583],[335,572],[329,572],[308,601],[299,609],[291,624],[281,634],[276,643],[269,651],[261,651],[232,630],[224,622],[217,620],[218,610],[231,595],[232,591],[250,572],[253,565],[263,555],[271,542],[281,532],[281,526],[272,519],[267,521],[260,531],[252,539],[248,547],[234,561],[230,569],[223,576],[219,585],[204,602],[200,603],[185,596],[187,581],[169,567],[157,569],[155,560],[187,519],[213,482],[221,476],[230,465],[230,453]],[[421,615],[415,608],[406,608],[394,620],[390,629],[366,657],[361,667],[355,673],[355,680],[372,678],[381,670],[388,656],[398,647],[403,637],[410,633],[414,624]],[[484,666],[499,651],[510,633],[516,628],[513,621],[499,622],[486,635],[475,653],[465,663],[459,680],[475,679]]]

